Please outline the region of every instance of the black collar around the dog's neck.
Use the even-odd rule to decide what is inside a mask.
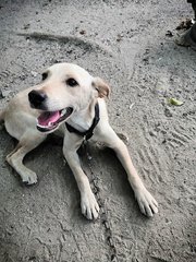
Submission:
[[[84,132],[81,132],[77,129],[70,126],[68,122],[65,122],[65,126],[66,126],[66,129],[68,129],[69,132],[76,133],[76,134],[83,136],[87,141],[94,135],[94,129],[97,126],[97,123],[99,122],[99,119],[100,119],[99,118],[99,104],[96,103],[94,121],[91,123],[91,127],[88,130],[86,130]]]

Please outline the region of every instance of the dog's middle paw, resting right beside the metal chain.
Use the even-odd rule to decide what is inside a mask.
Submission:
[[[97,219],[99,215],[99,205],[93,192],[87,192],[81,199],[82,214],[88,219]]]

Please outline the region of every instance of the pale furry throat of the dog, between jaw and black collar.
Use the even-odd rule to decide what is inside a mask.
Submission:
[[[68,123],[81,132],[88,130],[91,127],[95,117],[96,103],[97,98],[91,100],[85,109],[74,112],[68,120]]]

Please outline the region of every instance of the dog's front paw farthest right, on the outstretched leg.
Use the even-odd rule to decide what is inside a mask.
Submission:
[[[158,203],[146,188],[136,191],[135,198],[143,214],[154,216],[154,214],[158,213]]]

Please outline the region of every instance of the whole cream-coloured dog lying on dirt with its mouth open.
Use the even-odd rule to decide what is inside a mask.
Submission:
[[[137,175],[125,144],[109,124],[103,99],[109,92],[101,79],[76,64],[57,63],[47,69],[40,84],[19,93],[0,112],[7,131],[19,140],[7,160],[23,182],[36,183],[36,174],[23,165],[23,158],[48,133],[63,128],[63,154],[81,192],[82,213],[93,219],[98,217],[99,205],[81,167],[77,150],[84,140],[102,142],[117,153],[126,170],[142,213],[152,216],[158,212],[157,201]]]

